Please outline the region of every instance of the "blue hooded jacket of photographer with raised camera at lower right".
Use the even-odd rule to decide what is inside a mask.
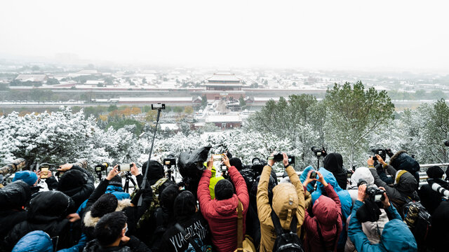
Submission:
[[[385,209],[389,222],[385,224],[379,244],[371,244],[362,230],[361,223],[357,220],[356,212],[363,202],[356,201],[352,209],[351,221],[349,221],[348,236],[356,246],[357,251],[417,251],[417,244],[412,232],[403,223],[398,211],[391,205]]]

